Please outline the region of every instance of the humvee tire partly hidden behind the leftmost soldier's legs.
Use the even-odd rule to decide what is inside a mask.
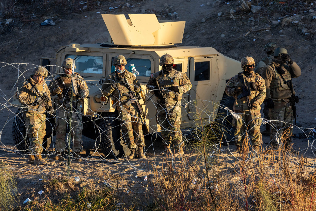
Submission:
[[[46,136],[43,139],[43,150],[47,148],[47,138],[52,135],[52,126],[54,125],[54,121],[52,123],[52,118],[50,118],[50,122],[46,122]],[[47,121],[47,120],[46,120]],[[26,127],[23,118],[23,113],[20,112],[20,109],[15,113],[15,117],[13,118],[12,123],[12,137],[13,142],[18,150],[25,151],[29,148],[30,141],[26,134]]]

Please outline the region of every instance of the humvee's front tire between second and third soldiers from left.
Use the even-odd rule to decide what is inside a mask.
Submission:
[[[106,112],[99,123],[98,149],[105,157],[129,156],[131,151],[121,136],[121,125],[117,112]]]

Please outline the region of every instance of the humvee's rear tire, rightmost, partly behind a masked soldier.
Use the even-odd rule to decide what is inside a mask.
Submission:
[[[224,95],[221,102],[217,115],[217,131],[216,133],[221,137],[218,137],[218,142],[222,138],[222,145],[233,145],[234,144],[234,131],[236,127],[233,125],[233,116],[228,110],[225,110],[224,107],[228,107],[230,110],[234,110],[234,97]],[[224,134],[223,134],[224,131]],[[223,136],[222,136],[223,135]]]

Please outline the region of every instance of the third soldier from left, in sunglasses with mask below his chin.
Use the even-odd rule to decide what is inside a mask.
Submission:
[[[136,157],[136,147],[138,148],[138,157],[146,158],[143,152],[143,148],[146,146],[142,128],[143,122],[135,103],[130,104],[131,98],[128,88],[129,86],[132,91],[139,93],[141,86],[135,75],[125,69],[126,64],[127,61],[124,56],[117,55],[114,57],[113,65],[116,71],[106,77],[102,85],[102,93],[106,97],[112,94],[116,102],[119,102],[119,120],[122,124],[121,127],[125,142],[131,151],[131,154],[127,158],[134,159]],[[125,78],[128,84],[125,82]],[[134,137],[134,134],[137,137]]]

